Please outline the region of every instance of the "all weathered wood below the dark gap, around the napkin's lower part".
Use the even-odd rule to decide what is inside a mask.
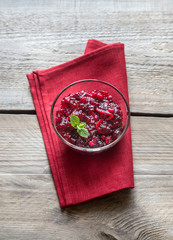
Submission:
[[[135,189],[60,210],[36,116],[1,114],[0,239],[171,240],[173,118],[131,123]]]

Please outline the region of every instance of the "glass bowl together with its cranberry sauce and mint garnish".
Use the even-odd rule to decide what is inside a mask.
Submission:
[[[58,137],[78,152],[102,152],[124,136],[130,110],[112,84],[96,79],[73,82],[56,96],[51,123]]]

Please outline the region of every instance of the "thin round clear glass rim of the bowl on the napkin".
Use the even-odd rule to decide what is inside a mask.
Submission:
[[[98,147],[98,148],[84,148],[84,147],[79,147],[77,145],[74,145],[70,142],[68,142],[67,140],[65,140],[61,134],[57,131],[56,129],[56,126],[54,124],[54,120],[53,120],[53,112],[54,112],[54,106],[58,100],[58,98],[60,97],[60,95],[65,92],[66,89],[68,89],[69,87],[75,85],[75,84],[78,84],[78,83],[82,83],[82,82],[99,82],[99,83],[103,83],[103,84],[106,84],[110,87],[112,87],[114,90],[116,90],[120,95],[121,97],[123,98],[124,102],[125,102],[125,105],[126,105],[126,110],[127,110],[127,121],[126,121],[126,125],[124,127],[124,130],[122,131],[121,135],[115,140],[113,141],[112,143],[106,145],[106,146],[103,146],[103,147]],[[50,119],[51,119],[51,124],[53,126],[53,129],[55,131],[55,133],[58,135],[58,137],[65,143],[67,144],[69,147],[71,147],[72,149],[75,149],[77,151],[82,151],[82,152],[100,152],[100,151],[103,151],[103,150],[106,150],[106,149],[109,149],[113,146],[115,146],[124,136],[124,134],[126,133],[127,129],[128,129],[128,126],[130,124],[130,107],[129,107],[129,104],[125,98],[125,96],[122,94],[122,92],[116,88],[115,86],[113,86],[111,83],[108,83],[106,81],[102,81],[102,80],[98,80],[98,79],[82,79],[82,80],[78,80],[78,81],[75,81],[71,84],[69,84],[68,86],[66,86],[65,88],[63,88],[58,94],[57,96],[55,97],[53,103],[52,103],[52,106],[51,106],[51,111],[50,111]]]

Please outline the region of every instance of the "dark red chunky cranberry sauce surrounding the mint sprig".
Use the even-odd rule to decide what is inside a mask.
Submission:
[[[76,115],[89,132],[81,137],[71,126],[70,115]],[[56,112],[56,128],[68,142],[80,147],[96,148],[110,144],[123,131],[121,108],[103,90],[80,91],[64,97]]]

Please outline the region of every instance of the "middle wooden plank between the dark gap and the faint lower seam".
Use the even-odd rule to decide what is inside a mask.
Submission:
[[[132,117],[135,174],[173,174],[173,118]],[[34,115],[0,115],[0,174],[50,173]]]

